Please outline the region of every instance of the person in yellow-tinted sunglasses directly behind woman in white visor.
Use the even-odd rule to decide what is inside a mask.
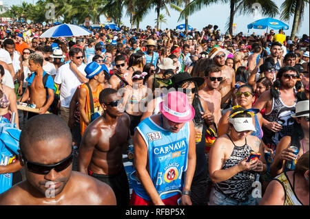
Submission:
[[[255,100],[254,91],[253,89],[247,85],[244,84],[239,87],[239,89],[236,92],[236,102],[237,106],[233,106],[234,108],[243,107],[246,110],[256,111],[255,109],[252,109],[252,104]],[[259,111],[258,111],[259,112]],[[253,124],[255,127],[255,131],[251,132],[251,135],[254,135],[258,137],[259,139],[262,139],[262,115],[260,113],[254,113],[253,117]],[[225,135],[229,131],[229,115],[231,115],[231,111],[227,111],[218,122],[218,136]]]

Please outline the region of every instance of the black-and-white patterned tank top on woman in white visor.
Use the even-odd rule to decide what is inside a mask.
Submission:
[[[227,135],[229,137],[229,135]],[[231,140],[231,138],[229,137]],[[235,145],[234,141],[231,140],[234,144],[234,150],[231,153],[231,156],[225,163],[223,163],[222,170],[227,170],[236,166],[240,161],[249,157],[252,150],[251,147],[247,144],[247,138],[245,138],[245,145],[238,147]],[[249,195],[252,192],[252,184],[256,180],[256,172],[253,171],[242,171],[238,174],[232,176],[227,181],[220,183],[215,183],[214,187],[216,191],[225,195],[227,198],[234,199],[240,203],[246,202],[249,198]]]

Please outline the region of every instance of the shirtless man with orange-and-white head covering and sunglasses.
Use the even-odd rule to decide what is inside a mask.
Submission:
[[[229,108],[231,104],[231,95],[235,89],[236,73],[234,69],[231,69],[231,67],[225,65],[225,60],[228,53],[229,52],[227,50],[221,49],[220,47],[213,47],[209,52],[209,58],[213,59],[214,64],[220,67],[221,77],[223,77],[223,80],[218,86],[218,91],[220,91],[222,96],[222,100],[220,102],[221,109]]]

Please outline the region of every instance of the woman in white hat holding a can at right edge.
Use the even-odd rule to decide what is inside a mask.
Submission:
[[[278,176],[283,171],[293,170],[296,160],[309,150],[309,100],[296,104],[296,119],[291,136],[282,137],[278,143],[276,154],[270,168],[271,176]],[[296,147],[296,151],[294,148]],[[294,154],[295,153],[295,154]]]

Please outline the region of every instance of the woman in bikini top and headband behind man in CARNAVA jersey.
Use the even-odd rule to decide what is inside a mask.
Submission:
[[[125,113],[130,116],[130,135],[134,135],[134,128],[140,123],[143,109],[147,101],[147,87],[144,84],[146,72],[134,71],[132,74],[132,86],[125,87],[123,106]]]

